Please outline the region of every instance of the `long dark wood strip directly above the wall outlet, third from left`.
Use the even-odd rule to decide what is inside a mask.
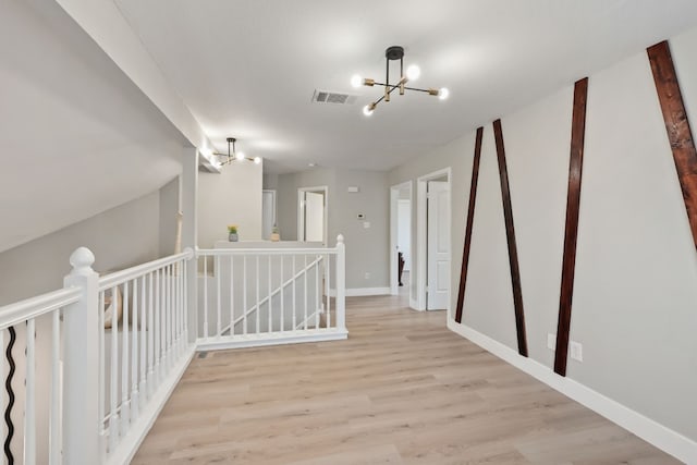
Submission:
[[[586,134],[586,101],[588,77],[574,86],[574,108],[571,123],[571,157],[568,161],[568,192],[566,194],[566,227],[564,230],[564,256],[562,260],[562,284],[559,295],[559,320],[557,322],[557,351],[554,371],[566,376],[571,306],[574,293],[576,268],[576,240],[578,237],[578,212],[580,206],[580,175],[584,164],[584,139]]]

